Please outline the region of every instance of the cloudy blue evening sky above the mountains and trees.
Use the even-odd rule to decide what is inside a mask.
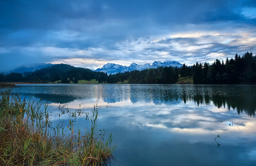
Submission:
[[[211,64],[247,51],[256,53],[255,0],[0,0],[0,72],[35,63]]]

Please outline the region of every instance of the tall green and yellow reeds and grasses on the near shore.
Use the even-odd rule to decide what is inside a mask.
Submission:
[[[1,165],[106,165],[114,157],[112,136],[104,140],[97,128],[97,107],[91,128],[75,132],[51,126],[47,103],[34,103],[2,91],[0,97]],[[68,133],[68,134],[67,134]]]

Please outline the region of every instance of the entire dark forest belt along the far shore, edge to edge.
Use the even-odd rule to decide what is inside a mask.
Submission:
[[[34,83],[78,83],[78,80],[96,79],[99,83],[126,82],[129,84],[175,84],[181,77],[193,76],[194,84],[256,84],[256,55],[252,52],[243,56],[235,54],[234,58],[213,64],[198,63],[193,66],[183,64],[181,68],[159,67],[156,69],[134,70],[110,74],[76,68],[67,64],[56,64],[34,72],[11,72],[0,74],[0,82],[34,82]]]

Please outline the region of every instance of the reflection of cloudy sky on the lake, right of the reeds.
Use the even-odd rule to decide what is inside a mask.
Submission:
[[[253,165],[256,162],[252,158],[256,149],[255,119],[245,114],[238,116],[224,107],[198,107],[194,101],[171,107],[152,102],[132,105],[120,102],[102,109],[99,116],[104,117],[99,124],[115,133],[119,147],[115,155],[120,165]],[[235,126],[237,122],[239,129]],[[218,134],[220,147],[214,142]]]

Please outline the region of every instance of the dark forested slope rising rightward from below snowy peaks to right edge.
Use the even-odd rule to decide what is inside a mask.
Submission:
[[[180,77],[192,77],[194,84],[256,84],[256,55],[238,54],[232,59],[213,64],[197,63],[193,66],[183,64],[181,68],[161,67],[142,71],[131,71],[109,75],[107,82],[116,83],[127,80],[130,84],[175,84]]]

